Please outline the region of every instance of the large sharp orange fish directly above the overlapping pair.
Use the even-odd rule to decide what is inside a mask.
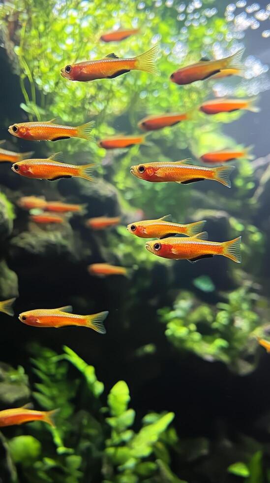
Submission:
[[[180,184],[189,184],[204,179],[213,179],[228,188],[231,187],[229,174],[234,170],[233,166],[207,168],[205,166],[192,166],[188,163],[189,160],[187,159],[175,162],[144,163],[131,166],[130,173],[137,178],[154,183],[174,181]]]

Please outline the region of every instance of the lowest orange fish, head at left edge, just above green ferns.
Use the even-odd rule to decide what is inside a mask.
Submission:
[[[55,427],[54,416],[59,410],[54,411],[33,411],[31,409],[14,408],[0,411],[0,427],[13,426],[31,421],[44,421]]]

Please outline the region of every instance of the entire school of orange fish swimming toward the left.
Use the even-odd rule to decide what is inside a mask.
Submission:
[[[104,42],[117,42],[130,35],[135,35],[139,29],[118,30],[101,35]],[[223,78],[231,75],[242,75],[240,60],[244,49],[234,55],[220,59],[210,60],[202,58],[198,63],[192,64],[173,72],[170,76],[172,82],[185,85],[195,81],[203,81],[208,78]],[[156,57],[159,52],[158,46],[149,51],[129,59],[120,59],[114,53],[104,59],[80,62],[74,65],[66,65],[60,74],[70,81],[92,81],[95,79],[113,79],[130,70],[142,70],[156,73]],[[254,99],[218,99],[206,101],[199,107],[200,111],[208,115],[220,112],[232,112],[239,109],[248,109],[257,112]],[[174,126],[185,120],[192,119],[193,113],[164,113],[145,117],[138,123],[138,127],[150,132],[165,127]],[[56,119],[43,122],[25,122],[12,124],[8,132],[18,138],[27,140],[50,140],[83,138],[91,140],[91,130],[94,122],[90,121],[82,126],[72,127],[57,123]],[[134,144],[142,144],[144,136],[114,136],[101,139],[98,145],[106,150],[128,148]],[[0,144],[5,141],[0,141]],[[71,165],[63,162],[62,153],[56,153],[46,159],[30,158],[33,152],[16,153],[0,148],[0,162],[12,163],[12,171],[33,179],[46,179],[54,181],[60,178],[72,176],[82,177],[92,181],[91,170],[93,164]],[[234,159],[252,159],[250,148],[243,150],[222,150],[205,153],[201,160],[207,164],[222,164]],[[149,182],[176,182],[189,184],[202,180],[215,180],[224,186],[231,187],[229,174],[234,170],[230,165],[218,167],[195,166],[190,160],[176,162],[151,162],[131,166],[130,173],[137,178]],[[84,213],[84,205],[71,205],[60,201],[47,201],[41,197],[25,196],[18,200],[18,205],[27,210],[37,208],[38,214],[31,214],[30,219],[39,224],[59,224],[65,222],[66,213]],[[101,216],[86,221],[86,226],[91,230],[103,230],[120,223],[120,217]],[[130,234],[140,238],[157,239],[146,242],[146,249],[154,255],[169,259],[186,259],[191,263],[202,258],[223,255],[234,262],[240,263],[240,240],[241,237],[228,242],[210,242],[208,234],[203,230],[206,221],[198,221],[189,224],[174,223],[171,215],[162,216],[159,219],[144,220],[130,223],[127,230]],[[185,235],[178,237],[177,235]],[[94,263],[88,267],[92,276],[127,275],[124,267],[112,266],[107,263]],[[0,302],[0,311],[14,315],[12,304],[15,298]],[[37,309],[20,313],[19,320],[24,324],[35,327],[64,327],[83,326],[104,334],[106,329],[103,325],[108,311],[91,315],[77,315],[72,313],[71,306],[58,309]],[[258,339],[258,343],[270,351],[270,343]],[[55,411],[41,412],[30,409],[16,408],[0,411],[0,426],[22,424],[24,422],[42,420],[54,425]]]

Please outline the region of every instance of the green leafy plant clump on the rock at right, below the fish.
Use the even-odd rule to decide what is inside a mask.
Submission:
[[[168,340],[180,351],[189,350],[203,359],[219,360],[239,374],[255,367],[250,361],[256,336],[268,324],[267,301],[241,287],[215,306],[201,303],[190,292],[180,292],[174,309],[159,310]],[[247,360],[248,359],[248,360]]]

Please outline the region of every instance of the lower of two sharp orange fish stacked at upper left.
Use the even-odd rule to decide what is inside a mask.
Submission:
[[[25,159],[12,165],[11,169],[14,173],[21,174],[21,176],[26,176],[27,178],[54,181],[60,178],[76,176],[93,181],[92,176],[90,176],[93,164],[77,166],[61,163],[62,154],[61,152],[52,154],[52,156],[45,159]]]

